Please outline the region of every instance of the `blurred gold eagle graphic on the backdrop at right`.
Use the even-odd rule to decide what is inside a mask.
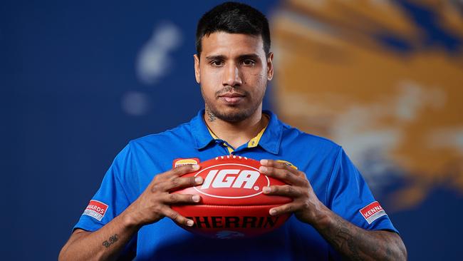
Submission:
[[[463,191],[463,5],[283,1],[271,16],[283,121],[343,145],[396,210]]]

